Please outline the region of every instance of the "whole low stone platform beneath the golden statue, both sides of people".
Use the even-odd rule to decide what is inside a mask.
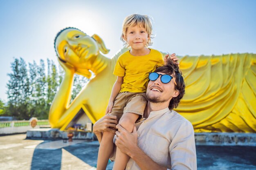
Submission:
[[[27,131],[27,139],[67,139],[67,133],[54,128]],[[72,139],[97,140],[93,132],[73,132]],[[196,145],[256,146],[256,133],[195,133]]]

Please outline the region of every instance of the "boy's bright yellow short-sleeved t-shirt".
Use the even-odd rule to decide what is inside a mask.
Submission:
[[[150,49],[148,55],[134,56],[130,51],[126,51],[117,60],[114,75],[124,77],[121,85],[121,92],[132,93],[146,92],[148,86],[148,73],[164,64],[162,54],[154,49]]]

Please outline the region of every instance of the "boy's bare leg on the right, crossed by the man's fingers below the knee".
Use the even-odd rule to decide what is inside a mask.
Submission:
[[[138,118],[139,115],[135,113],[125,113],[121,117],[119,124],[131,133],[134,127],[134,123]],[[128,155],[121,152],[117,147],[115,163],[112,170],[124,170],[126,168],[126,164],[129,161],[129,158],[130,157]]]

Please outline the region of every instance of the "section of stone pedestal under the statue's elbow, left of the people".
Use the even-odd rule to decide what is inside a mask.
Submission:
[[[56,128],[37,128],[27,130],[27,139],[68,139],[67,131],[60,131]],[[97,139],[93,132],[74,131],[72,139]]]

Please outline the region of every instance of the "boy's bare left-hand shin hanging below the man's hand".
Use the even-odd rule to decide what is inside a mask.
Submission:
[[[113,151],[113,138],[115,133],[103,132],[101,144],[99,146],[97,170],[106,170],[108,159]]]

